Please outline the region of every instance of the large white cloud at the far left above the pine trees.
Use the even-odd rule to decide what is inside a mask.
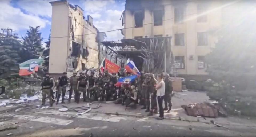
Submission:
[[[35,15],[24,14],[19,8],[10,5],[10,0],[0,2],[0,28],[12,28],[13,30],[28,29],[29,26],[45,27],[48,20]]]

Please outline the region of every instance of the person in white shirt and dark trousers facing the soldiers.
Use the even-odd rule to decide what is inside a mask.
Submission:
[[[163,74],[158,75],[157,77],[158,84],[155,86],[157,90],[157,102],[159,106],[159,118],[160,120],[164,119],[163,116],[163,98],[165,95],[165,82],[163,81]]]

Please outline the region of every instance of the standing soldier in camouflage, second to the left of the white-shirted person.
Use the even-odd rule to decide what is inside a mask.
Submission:
[[[143,81],[142,84],[142,99],[145,99],[145,103],[144,103],[144,107],[141,109],[146,109],[145,112],[149,112],[150,111],[150,100],[149,100],[149,82],[150,82],[150,78],[148,75],[146,75],[146,79]]]

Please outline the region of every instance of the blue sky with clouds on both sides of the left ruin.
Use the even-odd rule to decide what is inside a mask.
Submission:
[[[46,38],[51,28],[51,4],[56,0],[1,0],[0,28],[12,28],[20,37],[26,35],[29,26],[41,26],[42,37]],[[84,10],[84,16],[91,15],[99,31],[123,28],[119,20],[125,0],[68,0]],[[105,40],[119,40],[121,31],[108,32]]]

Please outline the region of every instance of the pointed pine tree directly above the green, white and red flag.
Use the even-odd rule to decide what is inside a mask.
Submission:
[[[27,36],[22,37],[23,47],[20,52],[21,62],[27,61],[29,59],[39,58],[43,52],[41,33],[39,32],[40,26],[29,27],[27,30]]]

